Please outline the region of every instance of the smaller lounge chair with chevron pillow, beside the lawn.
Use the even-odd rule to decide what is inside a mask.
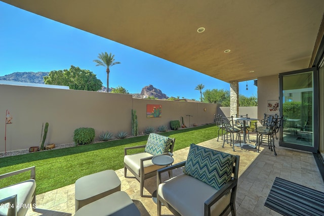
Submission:
[[[158,154],[173,152],[175,139],[151,133],[146,145],[125,148],[124,176],[127,177],[127,169],[132,172],[140,182],[140,194],[143,196],[144,180],[156,176],[156,170],[165,166],[155,165],[152,158]],[[144,152],[128,155],[129,150],[143,148]]]

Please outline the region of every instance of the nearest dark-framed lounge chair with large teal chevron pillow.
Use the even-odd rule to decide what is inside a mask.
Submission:
[[[161,174],[183,167],[165,182]],[[186,161],[157,170],[157,215],[163,203],[175,215],[236,214],[235,198],[239,156],[190,145]]]

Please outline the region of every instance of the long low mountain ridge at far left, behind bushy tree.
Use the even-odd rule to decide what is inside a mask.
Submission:
[[[50,72],[15,72],[0,76],[0,80],[44,84],[43,77],[49,75],[49,73]]]

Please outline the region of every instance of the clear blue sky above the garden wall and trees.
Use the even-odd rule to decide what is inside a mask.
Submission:
[[[94,72],[106,86],[106,69],[94,59],[102,52],[121,64],[110,68],[109,87],[140,93],[152,84],[171,97],[199,100],[197,84],[229,90],[229,83],[174,64],[112,40],[26,12],[0,2],[0,76],[13,72],[50,72],[71,65]],[[253,80],[239,82],[239,93],[257,96]]]

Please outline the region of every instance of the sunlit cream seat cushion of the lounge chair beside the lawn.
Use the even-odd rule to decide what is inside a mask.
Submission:
[[[147,152],[125,155],[124,163],[134,170],[138,176],[140,176],[141,159],[150,156],[153,155]],[[157,169],[163,167],[165,166],[154,165],[152,160],[146,160],[144,161],[144,174],[148,174],[149,172],[156,171]]]

